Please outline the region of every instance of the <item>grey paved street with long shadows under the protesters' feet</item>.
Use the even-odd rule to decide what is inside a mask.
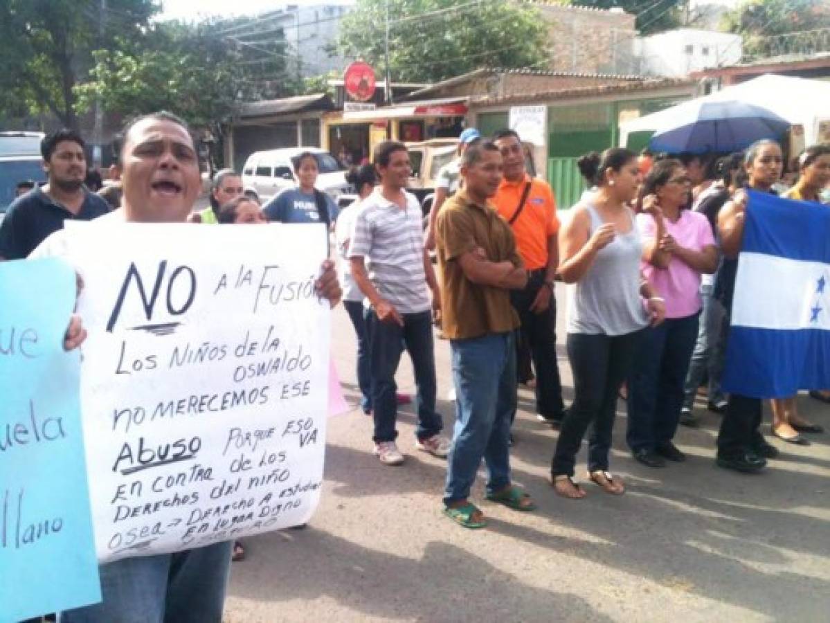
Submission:
[[[436,344],[446,398],[449,344]],[[354,404],[354,333],[342,307],[333,348]],[[398,384],[414,391],[405,357]],[[586,499],[565,500],[546,479],[557,433],[535,421],[530,398],[520,390],[512,468],[540,509],[487,503],[480,479],[473,501],[490,526],[477,531],[440,512],[445,464],[415,450],[411,408],[399,417],[400,467],[371,454],[371,420],[359,409],[330,419],[320,509],[305,530],[247,539],[226,620],[830,621],[830,436],[808,447],[770,438],[781,458],[763,475],[738,475],[715,467],[718,416],[702,411],[704,426],[679,433],[689,460],[650,470],[627,453],[621,402],[612,469],[627,494],[588,483]],[[799,406],[830,429],[830,407],[806,395]],[[449,433],[454,407],[439,407]],[[764,421],[769,433],[769,410]],[[584,451],[579,461],[584,480]]]

